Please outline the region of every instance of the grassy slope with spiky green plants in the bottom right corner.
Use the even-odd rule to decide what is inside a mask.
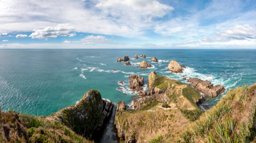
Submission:
[[[256,84],[230,89],[180,134],[179,143],[255,143]]]

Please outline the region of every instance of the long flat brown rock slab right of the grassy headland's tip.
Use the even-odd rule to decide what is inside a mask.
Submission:
[[[215,85],[211,83],[211,81],[203,81],[198,78],[189,78],[187,82],[190,82],[190,85],[193,86],[195,89],[201,91],[203,94],[205,94],[208,97],[218,97],[220,94],[225,92],[224,86],[221,85]]]

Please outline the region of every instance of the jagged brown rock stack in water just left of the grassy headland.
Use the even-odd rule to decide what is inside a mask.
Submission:
[[[140,91],[143,89],[143,85],[144,85],[143,77],[133,74],[132,76],[129,76],[128,78],[129,78],[130,89],[135,90],[135,91]]]

